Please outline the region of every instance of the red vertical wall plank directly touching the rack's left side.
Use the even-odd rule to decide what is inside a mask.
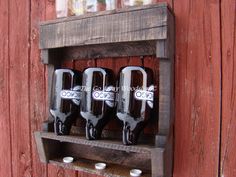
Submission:
[[[31,0],[31,28],[30,28],[30,126],[32,147],[32,172],[33,176],[47,177],[47,165],[40,162],[37,147],[34,141],[34,131],[41,130],[42,122],[47,118],[46,80],[44,77],[45,66],[40,62],[40,50],[38,48],[39,31],[38,24],[45,19],[45,1]]]

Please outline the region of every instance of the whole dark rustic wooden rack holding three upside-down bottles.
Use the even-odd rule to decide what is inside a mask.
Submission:
[[[125,146],[110,137],[88,141],[44,130],[35,132],[41,161],[104,176],[129,176],[133,167],[143,169],[143,176],[172,176],[174,43],[174,16],[163,3],[41,23],[41,58],[48,65],[49,89],[54,69],[64,60],[156,55],[160,61],[158,134],[153,141]],[[64,164],[64,155],[76,161]],[[94,170],[96,161],[107,162],[107,170]]]

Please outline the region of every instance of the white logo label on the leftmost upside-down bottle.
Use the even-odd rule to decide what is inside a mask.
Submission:
[[[62,90],[60,96],[62,99],[72,100],[76,105],[79,105],[81,99],[81,87],[76,86],[72,90]]]

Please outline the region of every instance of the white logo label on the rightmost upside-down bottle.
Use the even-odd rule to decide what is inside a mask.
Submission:
[[[151,85],[147,90],[135,90],[134,98],[136,100],[147,101],[150,108],[153,108],[154,101],[154,86]]]

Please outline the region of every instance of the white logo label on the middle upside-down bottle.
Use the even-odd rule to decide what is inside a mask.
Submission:
[[[94,100],[105,101],[110,107],[115,106],[115,92],[112,86],[107,87],[105,90],[94,90],[93,93]]]

